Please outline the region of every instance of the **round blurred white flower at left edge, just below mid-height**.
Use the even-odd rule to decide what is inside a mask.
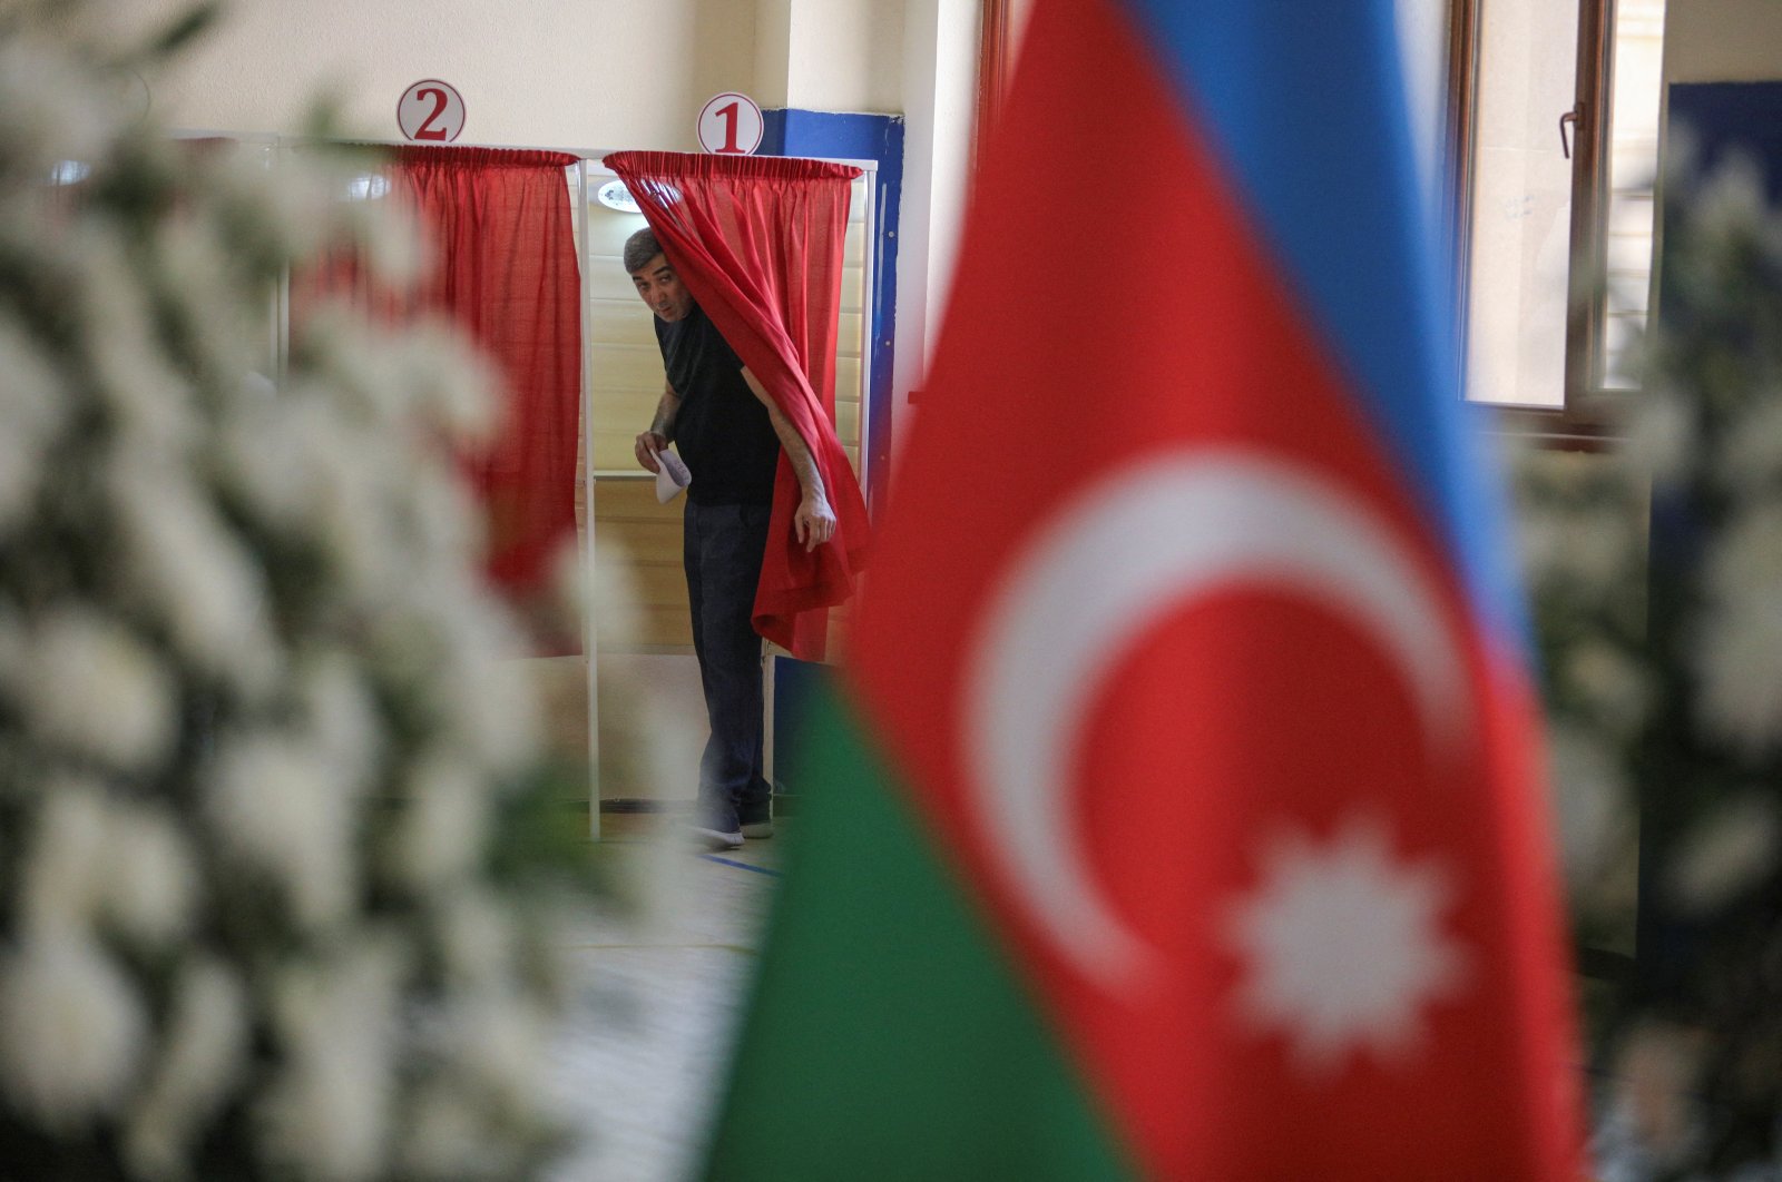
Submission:
[[[21,698],[36,737],[121,771],[157,762],[173,739],[175,684],[123,625],[84,607],[37,623]]]

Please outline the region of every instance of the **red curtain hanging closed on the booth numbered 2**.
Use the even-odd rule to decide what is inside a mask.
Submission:
[[[397,148],[380,166],[431,251],[412,292],[378,290],[356,253],[335,251],[292,276],[292,322],[315,299],[347,297],[369,315],[444,315],[503,376],[494,443],[463,459],[488,511],[488,573],[524,600],[576,536],[576,420],[581,408],[581,272],[563,169],[579,157],[497,148]],[[572,637],[552,641],[576,652]]]

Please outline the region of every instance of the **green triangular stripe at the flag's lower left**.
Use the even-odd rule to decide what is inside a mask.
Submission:
[[[800,812],[706,1177],[1130,1178],[1083,1081],[852,710]]]

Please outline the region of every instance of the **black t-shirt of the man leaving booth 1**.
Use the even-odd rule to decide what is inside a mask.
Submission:
[[[668,386],[681,397],[674,443],[693,474],[688,498],[702,506],[773,504],[779,436],[718,326],[695,304],[675,322],[656,317],[656,344]]]

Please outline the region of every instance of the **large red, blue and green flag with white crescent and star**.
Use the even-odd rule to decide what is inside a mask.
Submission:
[[[1037,0],[713,1178],[1574,1178],[1390,0]]]

